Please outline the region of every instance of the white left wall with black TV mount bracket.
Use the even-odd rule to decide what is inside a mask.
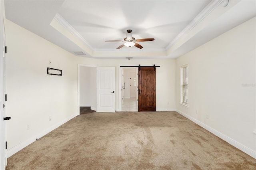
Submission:
[[[80,59],[8,20],[6,36],[6,110],[12,117],[7,122],[7,154],[11,156],[78,115],[77,63],[96,61]],[[47,67],[62,69],[63,76],[47,75]]]

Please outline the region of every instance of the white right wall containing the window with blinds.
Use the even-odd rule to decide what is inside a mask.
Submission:
[[[179,104],[180,66],[185,64],[188,64],[189,108]],[[253,18],[176,59],[176,109],[256,158],[255,77],[256,18]]]

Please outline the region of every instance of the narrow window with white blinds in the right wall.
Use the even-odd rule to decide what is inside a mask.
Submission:
[[[180,67],[180,103],[188,107],[188,65]]]

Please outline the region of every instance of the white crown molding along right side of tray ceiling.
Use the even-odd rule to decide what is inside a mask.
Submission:
[[[210,2],[210,4],[208,4],[208,6],[206,6],[204,10],[202,10],[202,12],[200,12],[200,14],[198,14],[198,16],[196,16],[196,18],[194,18],[194,20],[192,20],[192,22],[190,22],[190,24],[188,24],[188,26],[186,26],[186,28],[184,28],[184,30],[182,30],[182,32],[180,32],[180,34],[178,34],[178,36],[176,36],[176,38],[174,38],[174,40],[172,40],[172,42],[170,42],[166,46],[166,50],[175,45],[180,39],[182,39],[182,37],[188,34],[188,32],[192,30],[192,28],[200,23],[206,16],[208,16],[208,14],[212,12],[212,10],[214,10],[222,2],[223,0],[212,0],[212,2]]]

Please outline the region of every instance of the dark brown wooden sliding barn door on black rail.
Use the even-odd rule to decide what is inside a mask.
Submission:
[[[138,71],[138,111],[156,111],[156,70],[141,67]]]

